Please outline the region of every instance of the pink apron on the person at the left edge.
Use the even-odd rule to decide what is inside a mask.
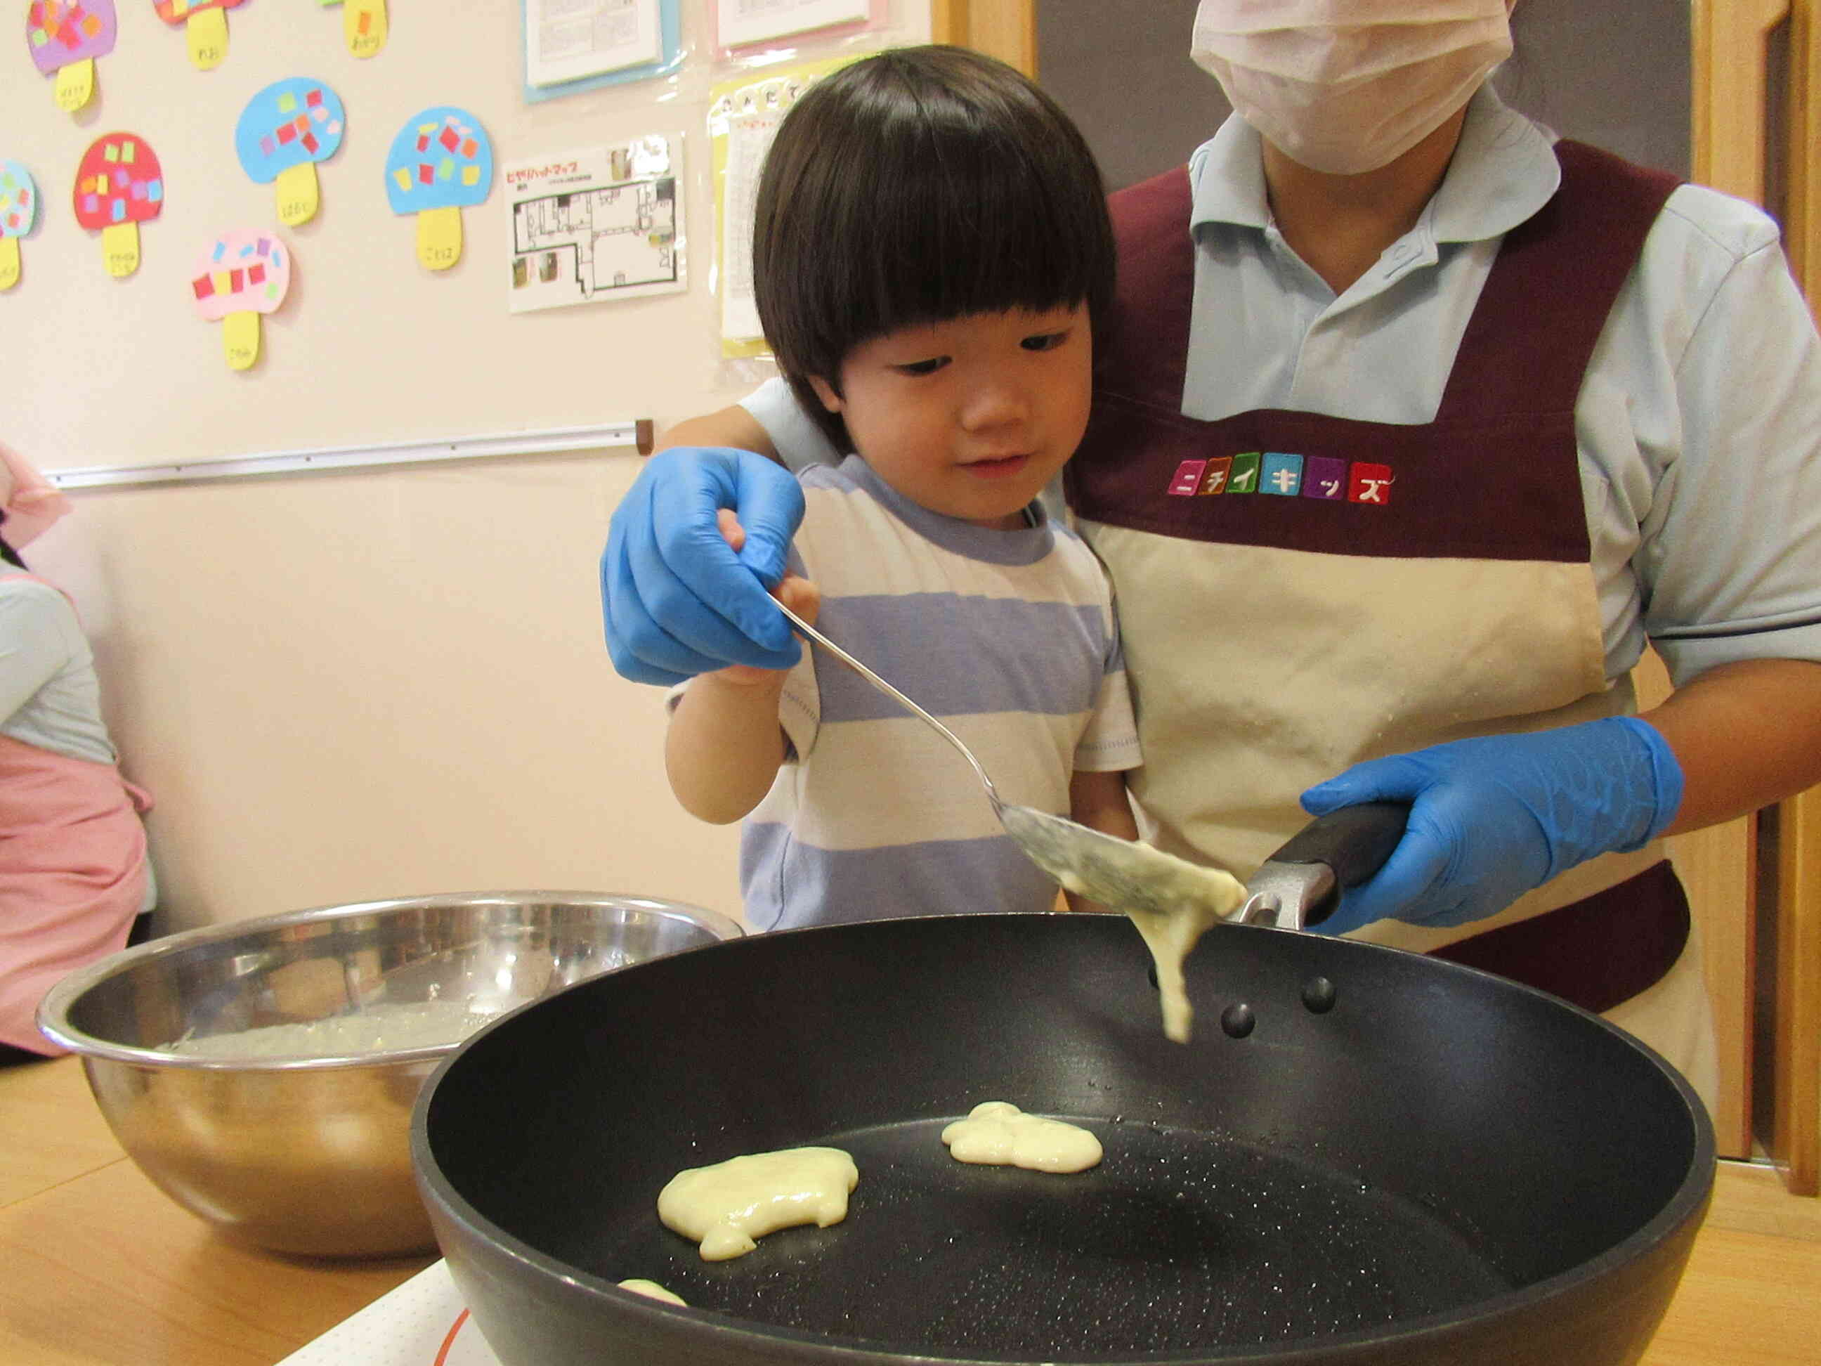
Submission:
[[[38,1002],[126,947],[151,876],[140,823],[149,807],[111,763],[0,736],[0,1044],[64,1051],[38,1033]]]

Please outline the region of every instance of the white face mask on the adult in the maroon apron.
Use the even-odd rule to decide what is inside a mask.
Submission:
[[[1506,0],[1202,0],[1189,55],[1317,171],[1402,157],[1511,55]]]

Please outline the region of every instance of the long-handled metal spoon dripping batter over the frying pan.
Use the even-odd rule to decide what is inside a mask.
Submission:
[[[1173,916],[1187,911],[1200,911],[1227,916],[1244,900],[1244,889],[1226,872],[1204,869],[1187,860],[1165,854],[1162,849],[1142,845],[1133,840],[1120,840],[1113,834],[1091,831],[1085,825],[1047,810],[1012,805],[1002,801],[998,789],[974,752],[949,730],[941,721],[925,712],[905,694],[874,674],[854,656],[830,641],[803,617],[783,603],[778,610],[790,619],[805,639],[814,641],[843,665],[860,674],[887,698],[894,699],[907,712],[934,727],[936,734],[954,745],[967,759],[980,785],[987,789],[992,812],[1005,827],[1005,834],[1023,849],[1025,856],[1058,883],[1089,902],[1100,902],[1114,911],[1138,911],[1149,914]]]

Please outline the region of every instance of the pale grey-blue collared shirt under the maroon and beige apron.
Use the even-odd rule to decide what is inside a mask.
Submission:
[[[1189,160],[1182,412],[1433,421],[1504,233],[1561,180],[1551,148],[1482,86],[1417,224],[1337,297],[1278,233],[1260,138],[1229,118]],[[790,459],[827,459],[787,386],[745,404]],[[1821,661],[1821,342],[1768,215],[1699,186],[1670,197],[1575,419],[1608,678],[1646,636],[1677,683],[1734,659]]]

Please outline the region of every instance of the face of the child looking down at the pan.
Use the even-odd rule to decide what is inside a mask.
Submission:
[[[821,379],[810,384],[900,494],[1014,528],[1082,441],[1091,364],[1083,304],[889,331],[849,352],[839,395]]]

